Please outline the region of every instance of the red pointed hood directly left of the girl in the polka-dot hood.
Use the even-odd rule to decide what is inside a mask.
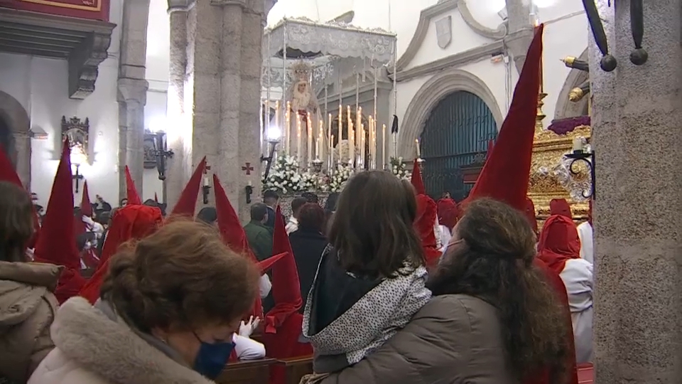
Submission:
[[[293,258],[291,243],[288,235],[286,235],[284,218],[279,206],[275,211],[272,252],[274,255],[283,252],[288,253],[272,268],[272,297],[275,306],[265,316],[265,331],[266,333],[276,334],[288,316],[298,314],[298,309],[303,305],[296,260]],[[298,331],[301,332],[301,329],[299,328]]]

